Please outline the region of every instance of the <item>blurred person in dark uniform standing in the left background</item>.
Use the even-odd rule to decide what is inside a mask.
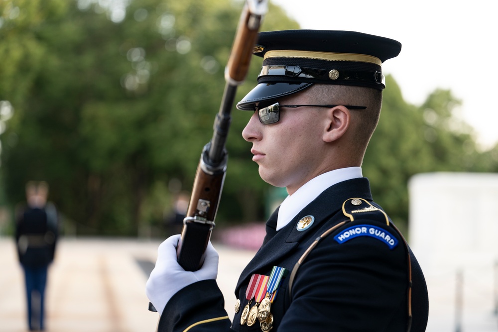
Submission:
[[[54,260],[58,236],[57,210],[47,203],[46,182],[26,184],[27,205],[16,209],[15,240],[24,270],[30,331],[44,330],[44,299],[48,265]]]

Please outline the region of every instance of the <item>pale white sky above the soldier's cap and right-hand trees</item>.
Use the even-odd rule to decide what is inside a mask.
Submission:
[[[405,101],[421,105],[435,89],[449,89],[463,101],[461,117],[476,129],[478,142],[498,142],[497,1],[270,1],[302,29],[359,31],[401,42],[399,56],[382,68]]]

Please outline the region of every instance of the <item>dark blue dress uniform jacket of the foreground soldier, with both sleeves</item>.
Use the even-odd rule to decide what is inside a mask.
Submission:
[[[216,281],[206,280],[173,296],[160,318],[158,331],[261,331],[257,321],[251,327],[241,325],[243,308],[249,302],[245,294],[251,275],[269,276],[273,266],[292,271],[313,241],[342,221],[347,222],[324,237],[307,255],[295,274],[291,291],[290,273],[282,279],[271,305],[274,320],[271,331],[407,331],[407,250],[412,275],[411,332],[425,331],[427,286],[415,256],[392,224],[387,224],[383,213],[356,214],[355,220],[350,221],[343,204],[351,198],[362,198],[376,206],[368,180],[360,178],[331,186],[278,232],[274,230],[277,212],[273,213],[266,223],[263,245],[239,279],[235,294],[241,300],[241,309],[233,323],[224,310],[223,295]],[[298,231],[296,224],[305,216],[314,216],[315,221],[306,230]],[[372,236],[354,237],[341,244],[334,239],[354,225],[379,227],[393,235],[398,244],[391,249]]]

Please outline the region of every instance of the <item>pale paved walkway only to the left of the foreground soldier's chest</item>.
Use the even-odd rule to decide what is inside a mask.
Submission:
[[[159,241],[63,239],[49,269],[47,332],[153,332],[158,315],[147,310],[144,271],[155,262]],[[233,314],[234,289],[253,255],[217,248],[220,287]],[[0,237],[0,332],[27,331],[22,270],[14,243]]]

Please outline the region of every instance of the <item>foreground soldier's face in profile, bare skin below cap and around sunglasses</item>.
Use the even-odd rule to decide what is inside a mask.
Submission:
[[[279,99],[281,105],[313,104],[303,93]],[[252,142],[252,160],[259,165],[265,182],[286,187],[289,194],[322,173],[326,125],[324,108],[281,108],[280,120],[272,124],[259,122],[252,114],[242,136]]]

